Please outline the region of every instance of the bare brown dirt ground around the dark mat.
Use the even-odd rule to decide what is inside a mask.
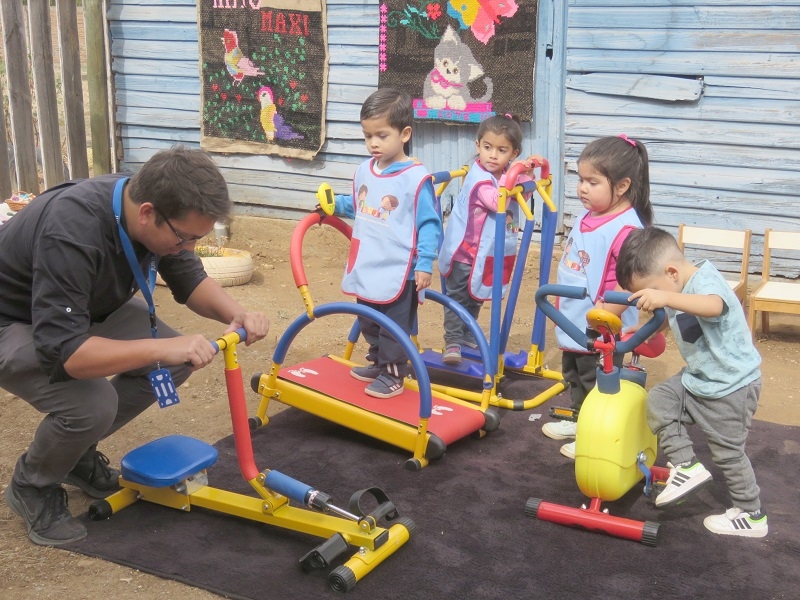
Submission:
[[[242,304],[266,313],[271,320],[268,338],[248,348],[243,347],[239,352],[247,380],[255,372],[269,369],[277,339],[304,310],[289,265],[289,241],[294,225],[292,221],[243,216],[236,217],[233,222],[229,245],[253,255],[255,273],[249,284],[227,289]],[[347,242],[338,231],[330,227],[314,227],[308,232],[304,261],[310,290],[317,304],[344,299],[340,281],[346,251]],[[531,298],[537,277],[538,256],[533,255],[528,261],[510,348],[530,347],[533,322]],[[180,331],[199,332],[209,338],[222,332],[219,324],[197,317],[176,304],[165,288],[158,287],[155,295],[159,316]],[[484,328],[488,325],[488,316],[489,311],[485,309],[481,317]],[[442,343],[440,307],[423,305],[420,323],[420,343],[425,347],[439,347]],[[341,353],[350,324],[351,318],[344,316],[326,317],[324,322],[312,323],[295,340],[285,364],[294,364],[327,352]],[[771,335],[757,341],[764,359],[764,391],[756,415],[759,419],[800,425],[799,334],[800,319],[773,317]],[[552,325],[548,327],[546,347],[546,363],[558,369],[559,353],[553,349]],[[355,356],[363,356],[361,348],[357,350]],[[665,355],[649,361],[648,366],[651,384],[680,368],[680,357],[671,340]],[[249,391],[249,386],[247,390],[254,413],[258,398]],[[208,443],[230,435],[221,360],[217,359],[209,367],[195,373],[180,389],[180,397],[180,404],[167,409],[153,406],[105,440],[100,448],[109,456],[112,464],[118,465],[126,452],[163,435],[182,433]],[[545,414],[546,411],[547,405],[532,410]],[[0,390],[0,489],[5,489],[14,463],[27,448],[40,418],[25,402]],[[69,488],[69,500],[73,514],[83,514],[88,508],[89,499],[80,490]],[[75,600],[100,597],[119,600],[217,597],[113,563],[36,546],[28,541],[21,519],[4,502],[0,502],[0,596],[20,600],[60,600],[65,594]]]

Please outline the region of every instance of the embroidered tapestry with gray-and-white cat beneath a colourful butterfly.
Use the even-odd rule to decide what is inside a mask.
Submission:
[[[414,117],[533,119],[538,0],[381,0],[379,86],[408,90]]]

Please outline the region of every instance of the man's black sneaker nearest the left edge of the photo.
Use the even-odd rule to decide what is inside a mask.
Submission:
[[[67,491],[60,485],[34,488],[12,481],[6,488],[6,503],[25,520],[34,544],[62,546],[86,537],[86,527],[70,514]]]

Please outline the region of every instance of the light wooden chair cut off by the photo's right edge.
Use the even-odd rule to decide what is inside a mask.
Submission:
[[[750,331],[756,333],[756,312],[761,311],[761,331],[769,333],[769,313],[800,314],[800,283],[794,281],[770,281],[770,261],[773,250],[800,251],[800,232],[764,231],[764,266],[761,283],[750,295],[750,310],[747,323]]]

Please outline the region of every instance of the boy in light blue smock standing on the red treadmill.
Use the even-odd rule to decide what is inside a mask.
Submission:
[[[406,154],[414,112],[411,97],[382,88],[361,107],[371,158],[356,170],[353,194],[337,195],[334,214],[355,220],[342,291],[383,313],[408,335],[417,318],[417,294],[431,284],[442,222],[428,170]],[[377,323],[359,317],[369,344],[367,364],[353,367],[366,394],[403,393],[408,357]]]

